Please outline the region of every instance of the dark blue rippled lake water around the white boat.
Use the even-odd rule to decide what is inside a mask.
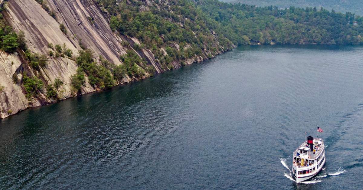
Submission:
[[[362,57],[244,46],[25,110],[0,121],[0,189],[360,189]],[[316,125],[325,170],[297,185],[292,153]]]

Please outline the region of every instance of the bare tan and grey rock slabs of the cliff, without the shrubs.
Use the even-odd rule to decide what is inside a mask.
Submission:
[[[47,0],[50,11],[55,14],[50,16],[48,12],[38,4],[36,0],[11,0],[4,4],[3,15],[15,31],[24,31],[26,44],[32,53],[48,55],[48,44],[65,44],[74,52],[73,58],[48,57],[48,64],[36,70],[28,65],[24,58],[24,52],[5,53],[0,52],[0,85],[4,88],[0,92],[0,117],[8,117],[29,107],[49,104],[53,101],[64,100],[74,96],[70,85],[70,78],[76,74],[77,63],[74,57],[81,48],[93,50],[95,56],[102,56],[115,65],[123,62],[120,56],[126,53],[127,48],[122,44],[140,44],[140,42],[128,36],[120,35],[111,30],[109,26],[109,15],[93,0]],[[150,4],[147,1],[147,4]],[[60,30],[60,24],[64,24],[67,33]],[[175,44],[178,46],[178,44]],[[131,48],[132,49],[132,48]],[[133,49],[132,49],[133,50]],[[20,50],[21,51],[21,50]],[[157,73],[168,70],[159,62],[155,61],[151,50],[134,50],[138,56],[147,61],[147,65],[155,68]],[[166,52],[164,52],[166,54]],[[195,61],[207,59],[210,52],[203,52],[200,56],[194,56],[187,60],[174,60],[174,68],[181,66],[181,61],[191,64]],[[221,51],[217,52],[221,53]],[[214,55],[213,55],[214,56]],[[45,89],[40,90],[36,97],[25,96],[22,78],[24,70],[30,76],[38,76],[44,85],[52,84],[59,78],[64,82],[60,89],[57,89],[58,99],[47,98]],[[115,85],[139,80],[150,76],[146,73],[143,77],[127,76],[123,80],[115,82]],[[14,75],[17,81],[14,81]],[[87,76],[86,76],[87,79]],[[86,80],[79,94],[94,92],[98,89]]]

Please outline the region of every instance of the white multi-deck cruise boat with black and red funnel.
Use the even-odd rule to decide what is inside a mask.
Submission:
[[[293,177],[296,183],[309,180],[317,175],[325,164],[324,141],[307,137],[293,154]]]

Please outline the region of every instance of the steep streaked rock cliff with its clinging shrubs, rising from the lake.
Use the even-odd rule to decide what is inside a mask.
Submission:
[[[143,4],[147,10],[148,4],[152,2]],[[198,54],[172,57],[165,63],[158,59],[151,48],[143,47],[138,37],[113,31],[110,27],[113,15],[96,1],[11,0],[5,2],[3,7],[4,19],[16,33],[23,32],[27,48],[11,53],[0,52],[1,118],[29,107],[150,77],[154,72],[161,73],[183,64],[202,61],[234,47],[220,47],[218,41],[213,39],[213,46],[217,49],[214,52],[202,49]],[[212,31],[210,35],[214,35]],[[168,46],[180,50],[178,43],[172,42]],[[185,44],[183,48],[188,47],[191,45]],[[166,45],[158,48],[163,56],[168,55]],[[92,60],[92,64],[85,66],[78,59],[82,49],[93,52],[92,60],[96,64],[93,66],[97,72],[90,69]],[[38,60],[42,58],[41,55],[46,56],[44,64]],[[130,69],[125,69],[122,65],[130,62],[127,62],[125,55],[136,55],[139,59],[134,57],[131,60],[140,61],[131,64]],[[34,64],[37,61],[39,64]],[[79,69],[82,64],[83,71]],[[117,72],[120,69],[124,69],[121,77]],[[112,74],[112,81],[107,85],[104,82],[106,79],[98,74],[102,72],[106,73],[105,76],[109,76],[107,73]],[[84,82],[78,88],[75,78],[79,75],[84,76]]]

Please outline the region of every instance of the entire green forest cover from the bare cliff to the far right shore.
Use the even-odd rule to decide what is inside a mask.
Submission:
[[[320,8],[278,9],[217,0],[126,1],[97,0],[113,15],[111,28],[138,38],[160,62],[187,58],[200,50],[216,52],[232,44],[361,44],[363,18]],[[351,23],[348,24],[348,21]],[[358,25],[352,25],[358,21]],[[215,35],[212,35],[215,34]],[[181,51],[172,43],[191,46]],[[174,49],[163,56],[160,47]],[[170,55],[169,55],[170,56]]]

